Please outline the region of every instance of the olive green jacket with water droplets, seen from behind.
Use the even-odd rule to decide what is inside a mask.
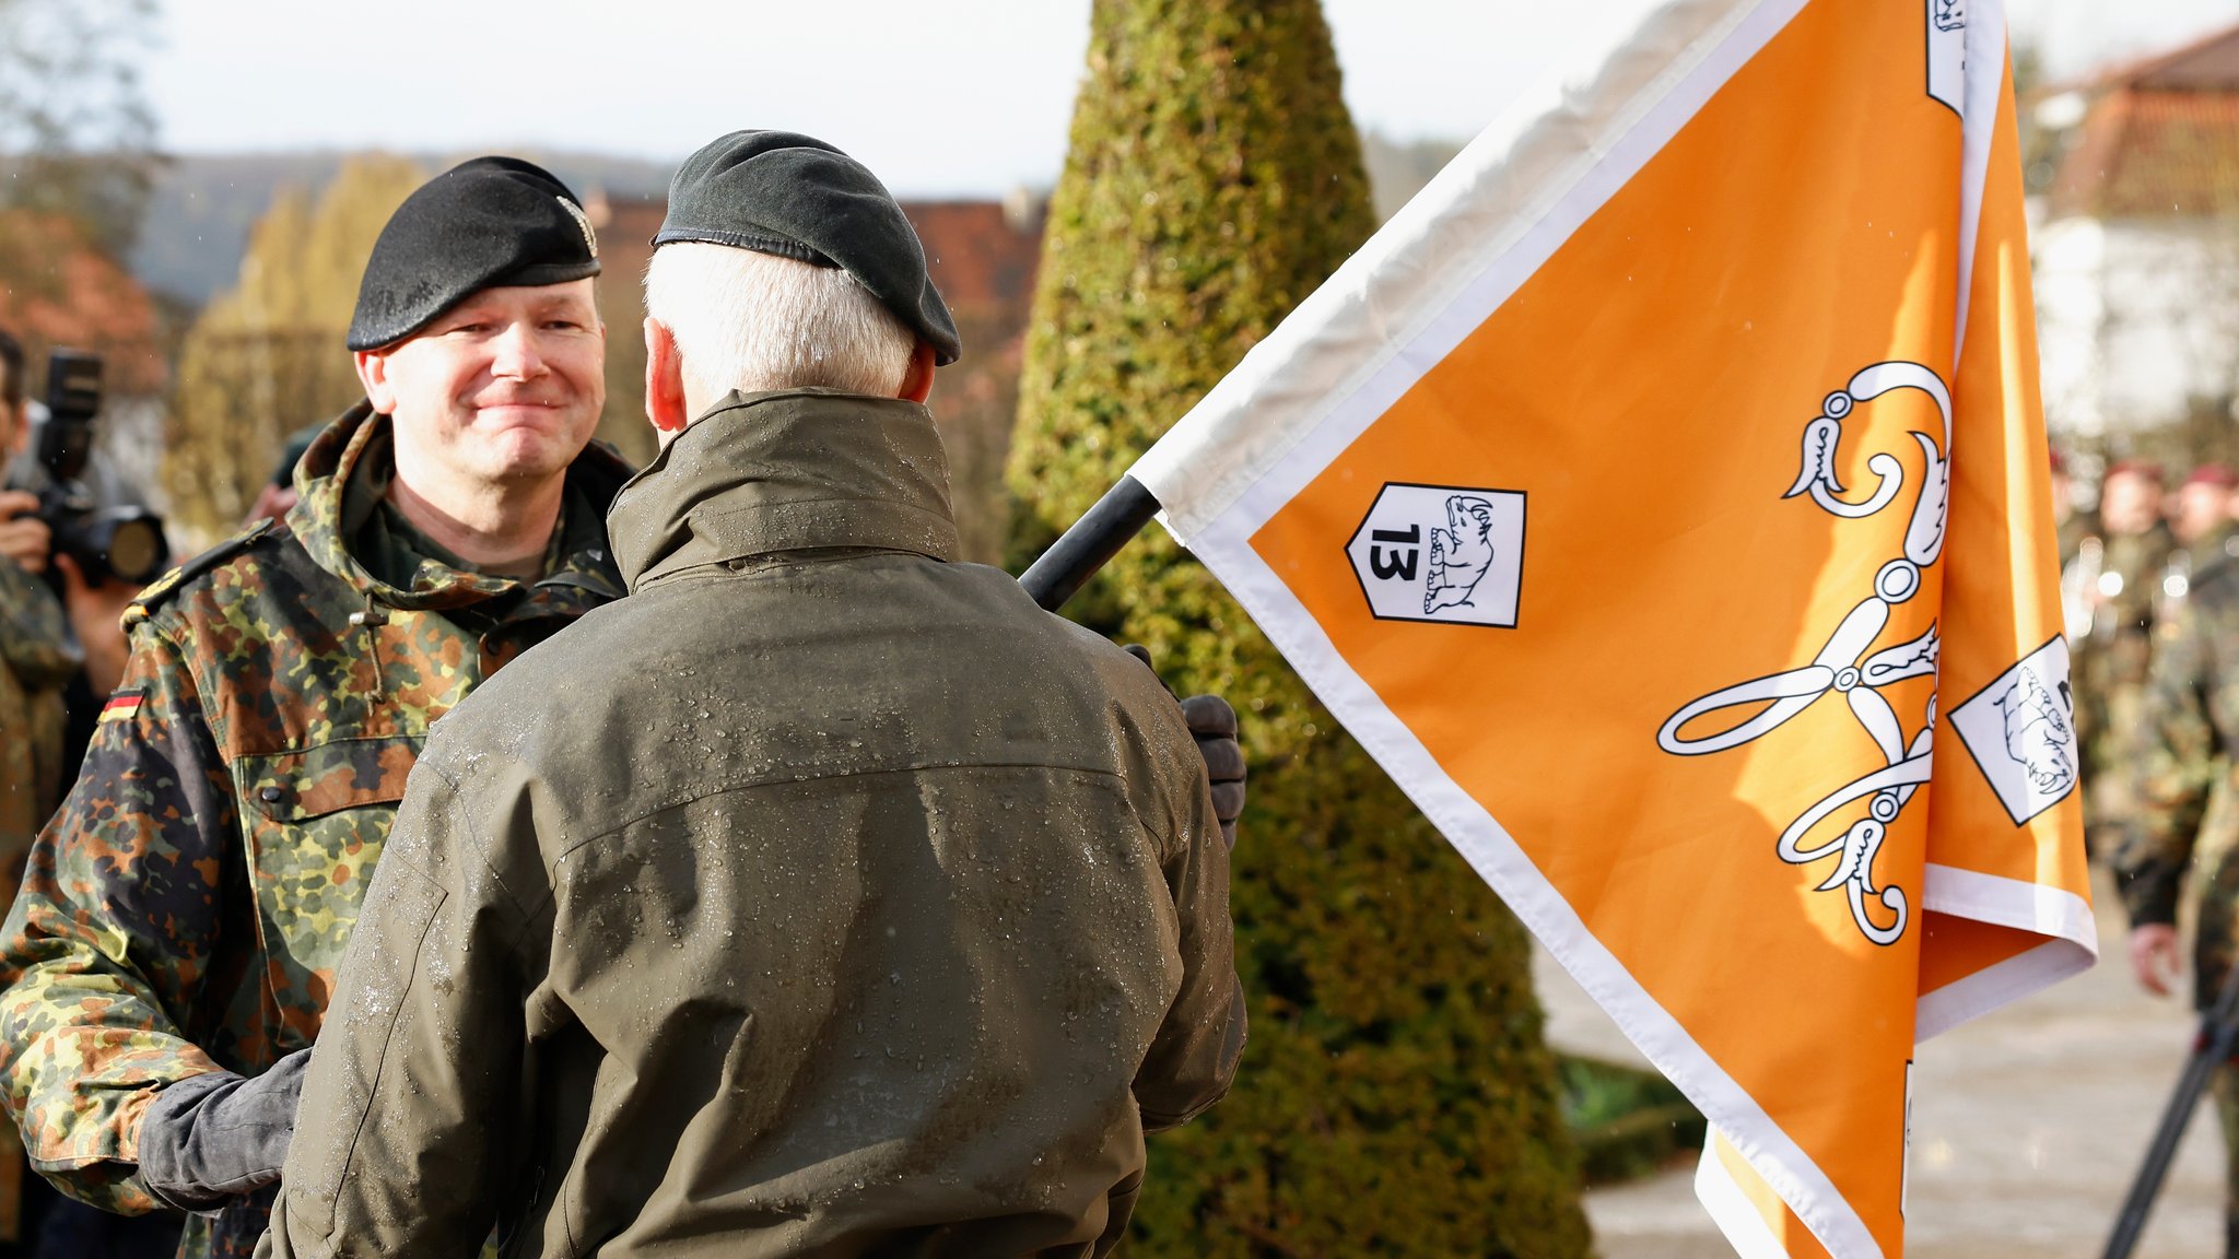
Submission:
[[[925,408],[732,394],[629,598],[412,773],[260,1255],[1102,1255],[1243,1051],[1135,659],[952,562]]]

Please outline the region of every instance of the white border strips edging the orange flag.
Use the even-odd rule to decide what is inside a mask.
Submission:
[[[1585,930],[1500,822],[1446,777],[1247,542],[1536,273],[1807,2],[1637,0],[1632,36],[1603,52],[1596,74],[1545,85],[1487,128],[1131,475],[1160,500],[1167,529],[1254,609],[1321,701],[1820,1243],[1836,1259],[1879,1259],[1872,1232],[1825,1172]],[[1977,0],[1973,18],[1970,63],[1995,58],[1997,74],[1968,74],[1955,358],[1966,338],[1990,128],[2006,69],[2004,2]],[[1570,157],[1552,157],[1563,150]],[[1502,184],[1491,197],[1489,181]],[[1471,199],[1491,199],[1500,213],[1491,224],[1482,211],[1458,215]],[[1451,220],[1469,224],[1467,231]],[[1928,907],[2051,927],[2058,936],[1928,995],[1917,1037],[2073,974],[2096,957],[2089,905],[2080,898],[2049,910],[2033,885],[1948,867],[1923,871],[1923,883]],[[1706,1207],[1737,1248],[1762,1241],[1735,1234],[1733,1212],[1708,1199]],[[1762,1221],[1755,1228],[1762,1232]]]

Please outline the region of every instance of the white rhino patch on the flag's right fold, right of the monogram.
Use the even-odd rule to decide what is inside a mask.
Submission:
[[[1952,710],[1952,730],[2020,827],[2076,791],[2069,643],[2053,638]]]

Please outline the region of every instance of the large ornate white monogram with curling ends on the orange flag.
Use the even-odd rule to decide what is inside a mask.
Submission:
[[[1843,421],[1870,403],[1896,390],[1919,390],[1934,399],[1943,417],[1943,441],[1928,432],[1912,432],[1921,448],[1921,484],[1912,500],[1912,517],[1905,524],[1903,553],[1881,565],[1874,573],[1874,594],[1858,600],[1849,616],[1834,627],[1820,654],[1800,668],[1789,668],[1751,681],[1713,690],[1702,699],[1673,712],[1657,730],[1657,744],[1679,757],[1702,757],[1751,744],[1771,735],[1789,719],[1798,717],[1829,694],[1840,694],[1849,703],[1852,717],[1881,748],[1883,768],[1876,768],[1845,786],[1838,786],[1818,804],[1802,811],[1789,829],[1780,833],[1780,860],[1789,865],[1811,865],[1823,858],[1836,860],[1818,892],[1843,887],[1849,896],[1849,916],[1858,932],[1879,943],[1896,943],[1905,934],[1910,916],[1905,889],[1883,887],[1874,880],[1874,858],[1890,824],[1905,811],[1912,795],[1928,782],[1930,753],[1934,748],[1937,701],[1928,699],[1921,728],[1910,739],[1896,708],[1881,697],[1881,688],[1914,677],[1937,674],[1937,630],[1910,643],[1896,643],[1874,652],[1874,643],[1890,625],[1890,609],[1910,603],[1921,591],[1923,569],[1934,567],[1943,556],[1943,509],[1950,500],[1950,464],[1943,453],[1952,444],[1952,397],[1943,379],[1919,363],[1874,363],[1849,379],[1849,385],[1827,394],[1820,414],[1805,426],[1802,470],[1796,484],[1780,497],[1811,495],[1811,502],[1829,515],[1843,520],[1865,520],[1879,515],[1905,486],[1905,466],[1887,453],[1874,455],[1865,468],[1874,473],[1876,486],[1863,502],[1845,500],[1836,475],[1836,453],[1843,444]],[[1867,654],[1872,652],[1872,654]],[[1742,717],[1735,719],[1735,712]],[[1724,715],[1729,726],[1708,735],[1688,737],[1681,730],[1704,717]],[[1820,824],[1847,813],[1852,804],[1865,800],[1865,818],[1856,818],[1832,838],[1809,842]],[[1867,901],[1879,901],[1894,916],[1890,925],[1874,921]]]

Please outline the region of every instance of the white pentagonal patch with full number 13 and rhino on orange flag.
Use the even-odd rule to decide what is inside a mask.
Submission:
[[[1346,544],[1379,621],[1516,627],[1525,495],[1393,482]]]

